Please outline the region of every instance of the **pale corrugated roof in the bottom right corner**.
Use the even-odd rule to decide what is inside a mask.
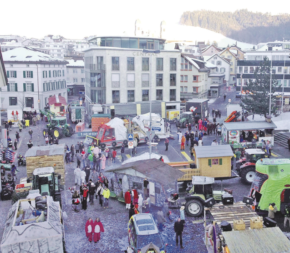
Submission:
[[[279,227],[222,232],[231,253],[290,252],[290,241]]]

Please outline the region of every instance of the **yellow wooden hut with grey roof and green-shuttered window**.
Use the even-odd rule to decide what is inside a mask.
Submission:
[[[194,150],[196,168],[201,176],[212,178],[231,176],[231,158],[233,151],[230,145],[196,146]]]

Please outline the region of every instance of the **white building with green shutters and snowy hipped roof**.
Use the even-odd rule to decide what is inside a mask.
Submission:
[[[2,109],[9,105],[44,108],[55,94],[67,99],[66,61],[21,47],[3,52],[8,86],[1,88]]]

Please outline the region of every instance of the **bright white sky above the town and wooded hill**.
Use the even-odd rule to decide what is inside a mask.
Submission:
[[[230,11],[247,8],[253,12],[271,12],[272,15],[290,10],[281,5],[259,4],[244,0],[240,4],[213,0],[178,2],[153,1],[3,1],[1,3],[0,35],[19,35],[43,38],[45,35],[62,35],[66,39],[83,39],[90,35],[120,35],[135,30],[139,19],[143,28],[159,30],[161,21],[177,24],[185,11]],[[223,4],[224,2],[224,4]],[[181,3],[181,4],[180,4]]]

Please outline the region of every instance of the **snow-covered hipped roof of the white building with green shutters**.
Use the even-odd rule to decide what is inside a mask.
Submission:
[[[19,47],[2,53],[4,62],[67,62],[31,47]]]

